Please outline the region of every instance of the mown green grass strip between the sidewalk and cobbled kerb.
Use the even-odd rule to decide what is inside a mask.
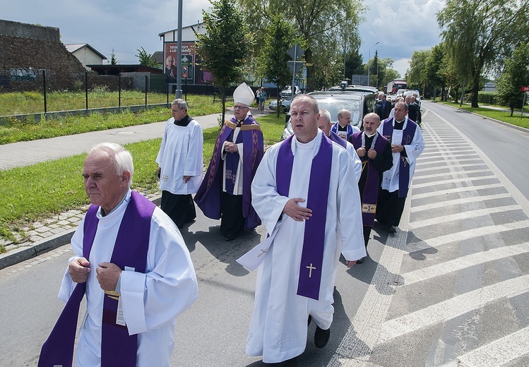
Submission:
[[[166,110],[167,112],[167,110]],[[285,115],[257,118],[265,147],[280,140]],[[203,131],[204,166],[208,167],[220,128]],[[125,145],[134,158],[133,188],[144,193],[159,191],[155,162],[161,139]],[[86,154],[0,171],[0,237],[13,243],[25,241],[24,228],[71,209],[83,209],[88,198],[83,187]],[[0,246],[1,247],[1,246]],[[0,248],[1,253],[1,248]]]

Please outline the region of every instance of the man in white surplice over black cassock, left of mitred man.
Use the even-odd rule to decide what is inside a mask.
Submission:
[[[156,157],[162,191],[160,207],[182,229],[196,218],[191,194],[202,182],[203,136],[201,126],[187,114],[186,101],[174,100],[171,113]]]

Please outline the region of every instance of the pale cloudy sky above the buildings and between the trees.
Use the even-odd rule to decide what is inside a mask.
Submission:
[[[88,43],[110,60],[112,49],[119,64],[137,64],[137,49],[162,51],[158,35],[178,28],[177,0],[1,0],[0,18],[59,28],[64,44]],[[444,0],[364,0],[369,7],[360,25],[360,53],[367,61],[378,50],[391,57],[405,75],[414,51],[438,44],[436,13]],[[182,24],[202,20],[208,0],[184,0]],[[185,40],[184,40],[185,41]],[[373,47],[376,42],[380,42]],[[371,48],[371,49],[370,49]],[[370,50],[369,50],[370,49]]]

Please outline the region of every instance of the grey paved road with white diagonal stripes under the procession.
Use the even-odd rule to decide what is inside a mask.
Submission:
[[[364,264],[340,262],[331,340],[316,349],[309,328],[299,366],[529,366],[529,201],[513,184],[529,172],[510,168],[528,162],[529,134],[423,109],[427,148],[400,230],[376,225]],[[516,160],[497,164],[498,142]],[[200,295],[177,323],[172,366],[263,366],[244,355],[256,274],[234,261],[262,227],[225,243],[199,214],[183,236]],[[0,270],[0,366],[35,366],[69,255],[63,246]]]

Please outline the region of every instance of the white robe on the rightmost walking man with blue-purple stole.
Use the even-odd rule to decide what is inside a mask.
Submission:
[[[391,122],[393,126],[395,126],[395,119],[393,119]],[[402,130],[397,130],[396,128],[393,128],[391,144],[400,145],[400,143],[402,143],[403,131],[405,131],[406,126],[408,126],[408,116],[406,116],[405,118]],[[377,131],[380,133],[381,136],[384,136],[384,123],[380,124]],[[422,139],[422,131],[420,126],[417,126],[417,128],[415,129],[415,135],[412,138],[411,144],[403,146],[406,150],[407,155],[407,157],[405,157],[405,160],[408,162],[408,164],[410,164],[410,179],[408,181],[409,188],[412,184],[413,174],[415,173],[415,162],[417,160],[417,157],[419,157],[419,155],[424,150],[424,140]],[[393,193],[393,191],[398,190],[398,174],[400,170],[399,168],[401,157],[402,155],[400,155],[400,152],[393,152],[393,167],[391,167],[391,169],[389,169],[388,171],[384,172],[382,176],[381,186],[384,190],[387,190],[390,193]]]

